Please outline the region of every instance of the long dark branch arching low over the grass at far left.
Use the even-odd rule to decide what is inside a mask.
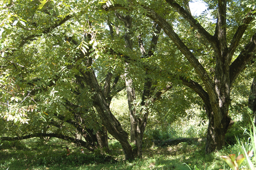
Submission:
[[[72,137],[65,136],[63,134],[57,134],[57,133],[34,133],[34,134],[31,134],[31,135],[26,135],[26,136],[0,137],[0,140],[13,141],[13,140],[28,139],[28,138],[32,138],[32,137],[56,137],[56,138],[59,138],[59,139],[64,139],[66,141],[79,144],[79,145],[89,149],[90,151],[94,151],[96,149],[96,147],[91,147],[87,142],[85,142],[83,140],[74,139]]]

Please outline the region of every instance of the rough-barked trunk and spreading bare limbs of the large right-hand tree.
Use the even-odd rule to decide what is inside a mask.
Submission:
[[[242,24],[237,28],[233,39],[227,42],[226,39],[226,0],[218,0],[217,6],[217,23],[214,35],[209,34],[202,25],[193,18],[189,12],[189,6],[186,0],[183,1],[185,9],[175,0],[166,0],[166,2],[176,10],[189,24],[198,31],[214,50],[216,66],[214,69],[214,80],[211,79],[205,68],[200,64],[193,52],[184,44],[184,42],[175,33],[171,24],[163,17],[156,13],[153,9],[143,6],[147,12],[146,16],[160,25],[165,34],[172,40],[176,47],[186,57],[195,72],[200,77],[204,85],[195,82],[183,80],[183,84],[194,89],[195,92],[203,99],[205,103],[206,113],[209,119],[207,130],[206,153],[219,150],[224,146],[224,137],[227,129],[233,124],[228,116],[230,99],[230,88],[236,80],[237,76],[244,70],[246,64],[255,57],[256,52],[256,34],[254,34],[248,44],[241,51],[239,56],[231,63],[233,55],[237,50],[239,42],[251,22],[251,11],[244,17]],[[115,7],[105,7],[105,10],[117,9]],[[120,9],[125,7],[120,7]],[[133,9],[136,10],[136,9]],[[229,44],[229,46],[227,45]],[[205,90],[202,88],[204,86]]]

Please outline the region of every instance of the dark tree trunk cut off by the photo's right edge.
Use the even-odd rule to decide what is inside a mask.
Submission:
[[[254,116],[254,125],[256,126],[256,78],[253,78],[253,82],[251,85],[251,95],[249,96],[248,105],[252,110],[252,114]]]

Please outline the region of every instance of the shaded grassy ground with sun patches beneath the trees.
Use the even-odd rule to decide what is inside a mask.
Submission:
[[[220,156],[232,152],[229,146],[222,151],[205,155],[205,140],[176,140],[180,142],[144,142],[143,158],[134,161],[124,159],[121,145],[115,140],[109,144],[109,154],[102,150],[90,152],[86,149],[85,154],[81,154],[81,147],[59,139],[47,143],[36,139],[1,141],[0,170],[189,170],[187,165],[191,169],[196,169],[196,166],[200,170],[219,170],[224,169],[224,161]],[[65,150],[67,146],[71,151],[68,156]]]

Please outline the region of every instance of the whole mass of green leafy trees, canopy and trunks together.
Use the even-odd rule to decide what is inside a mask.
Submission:
[[[205,153],[222,149],[232,119],[251,116],[255,4],[204,2],[192,16],[186,0],[2,0],[0,139],[109,152],[110,133],[135,159],[147,124],[164,139],[152,124],[197,115]],[[125,111],[111,109],[123,96]]]

